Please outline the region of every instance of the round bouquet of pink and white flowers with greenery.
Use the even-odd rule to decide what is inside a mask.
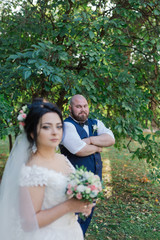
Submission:
[[[70,174],[66,194],[81,200],[93,202],[102,194],[102,184],[98,175],[88,172],[84,166]]]

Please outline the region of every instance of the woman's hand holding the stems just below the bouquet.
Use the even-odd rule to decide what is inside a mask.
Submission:
[[[78,200],[76,198],[71,198],[68,201],[71,212],[80,212],[83,213],[85,216],[89,216],[91,214],[92,208],[96,205],[95,203]]]

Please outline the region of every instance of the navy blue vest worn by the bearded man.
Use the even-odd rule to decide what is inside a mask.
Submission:
[[[93,125],[97,125],[96,120],[88,119],[89,136],[83,127],[75,122],[71,117],[66,118],[65,122],[71,122],[76,127],[76,130],[81,139],[87,138],[89,136],[97,136],[97,131],[93,133]],[[60,145],[60,150],[62,154],[67,156],[74,167],[80,167],[83,165],[87,168],[88,171],[99,175],[99,177],[102,179],[102,161],[100,153],[91,154],[85,157],[79,157],[75,154],[70,153],[63,145]]]

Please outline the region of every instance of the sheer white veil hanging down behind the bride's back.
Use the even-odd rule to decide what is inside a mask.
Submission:
[[[24,240],[38,229],[26,187],[20,187],[22,166],[31,154],[25,132],[19,135],[7,160],[0,186],[0,239]],[[26,238],[26,236],[28,236]]]

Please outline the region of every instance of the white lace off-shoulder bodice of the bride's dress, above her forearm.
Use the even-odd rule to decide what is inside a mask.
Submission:
[[[39,167],[36,165],[33,165],[32,167],[23,166],[20,185],[45,185],[45,196],[42,206],[43,209],[53,207],[67,199],[65,194],[67,176],[44,167]]]

